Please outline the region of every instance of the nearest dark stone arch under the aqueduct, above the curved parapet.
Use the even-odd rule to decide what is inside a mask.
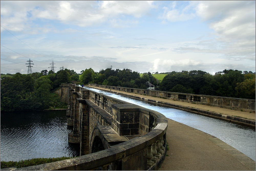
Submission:
[[[99,128],[96,126],[91,135],[90,141],[90,154],[95,153],[110,147],[109,143],[105,140],[104,136],[101,134]],[[101,149],[101,150],[99,150]]]

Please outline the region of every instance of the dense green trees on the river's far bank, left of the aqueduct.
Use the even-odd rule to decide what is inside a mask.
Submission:
[[[73,72],[73,73],[72,73]],[[43,70],[40,73],[14,74],[1,80],[1,111],[43,110],[49,107],[66,108],[57,94],[51,93],[61,83],[69,83],[73,70],[57,73]]]

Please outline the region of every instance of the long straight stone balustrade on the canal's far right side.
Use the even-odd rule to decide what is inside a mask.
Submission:
[[[145,94],[149,96],[156,96],[167,99],[174,99],[178,101],[186,101],[198,104],[205,104],[209,106],[216,106],[220,108],[242,110],[246,112],[255,113],[255,100],[251,99],[239,99],[239,98],[229,98],[229,97],[219,97],[210,95],[199,95],[199,94],[187,94],[187,93],[176,93],[167,91],[157,91],[157,90],[145,90],[145,89],[134,89],[125,87],[115,87],[115,86],[105,86],[98,84],[88,84],[92,87],[114,89],[125,92],[133,92],[137,94]]]

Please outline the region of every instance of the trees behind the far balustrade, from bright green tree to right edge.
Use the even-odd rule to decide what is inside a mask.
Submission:
[[[150,81],[160,91],[202,94],[221,97],[255,99],[255,72],[223,70],[214,75],[200,70],[168,72],[162,81],[150,72],[111,68],[95,72],[92,68],[82,71],[81,83],[96,83],[107,86],[147,89]]]

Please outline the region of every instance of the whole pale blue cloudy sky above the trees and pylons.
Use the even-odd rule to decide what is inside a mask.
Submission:
[[[1,1],[1,73],[29,59],[32,72],[255,72],[255,1]]]

